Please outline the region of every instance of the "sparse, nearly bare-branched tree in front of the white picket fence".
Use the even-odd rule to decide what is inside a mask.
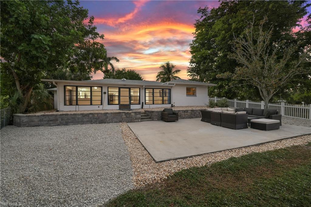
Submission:
[[[230,58],[241,64],[234,73],[226,72],[217,77],[233,80],[244,80],[249,85],[258,88],[260,96],[269,108],[269,101],[281,86],[297,75],[311,73],[310,68],[303,67],[302,63],[311,59],[310,48],[303,48],[304,53],[295,61],[290,61],[298,50],[299,44],[285,45],[282,41],[272,41],[271,26],[267,31],[263,27],[267,24],[264,18],[258,28],[254,27],[254,21],[249,22],[248,27],[239,37],[234,36],[233,53]]]

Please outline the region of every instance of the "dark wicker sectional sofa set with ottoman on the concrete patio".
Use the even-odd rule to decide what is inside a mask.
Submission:
[[[259,130],[279,129],[282,115],[274,109],[256,108],[212,108],[201,110],[202,122],[230,129],[247,129],[249,126]]]

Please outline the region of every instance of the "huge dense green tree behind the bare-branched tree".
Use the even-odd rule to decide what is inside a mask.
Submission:
[[[234,34],[242,34],[247,21],[253,21],[253,16],[254,26],[258,26],[263,16],[267,16],[268,22],[263,29],[274,26],[272,42],[285,41],[285,45],[288,45],[306,39],[302,41],[304,45],[301,45],[301,48],[304,48],[310,44],[310,40],[300,32],[293,34],[292,29],[300,25],[300,19],[307,14],[306,8],[309,5],[306,1],[221,1],[217,8],[199,8],[201,18],[195,23],[194,39],[190,44],[190,77],[193,80],[217,84],[209,91],[212,95],[241,99],[260,98],[257,88],[244,85],[247,84],[244,80],[216,77],[224,72],[233,73],[236,67],[241,66],[235,59],[228,57],[233,53],[231,42]],[[292,56],[293,60],[298,57],[299,52],[295,55]],[[301,81],[306,78],[305,75],[297,75],[293,80]],[[284,85],[284,89],[280,91],[288,90],[293,84]],[[234,85],[235,87],[232,87]]]

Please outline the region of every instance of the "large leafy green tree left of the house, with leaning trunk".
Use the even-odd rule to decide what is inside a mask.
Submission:
[[[22,97],[20,112],[41,78],[62,70],[90,73],[102,70],[104,39],[94,17],[75,1],[1,1],[1,73],[15,82]]]

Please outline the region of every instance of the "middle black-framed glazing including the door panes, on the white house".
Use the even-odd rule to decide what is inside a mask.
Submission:
[[[108,87],[109,105],[128,103],[129,97],[131,105],[140,104],[140,88]]]

